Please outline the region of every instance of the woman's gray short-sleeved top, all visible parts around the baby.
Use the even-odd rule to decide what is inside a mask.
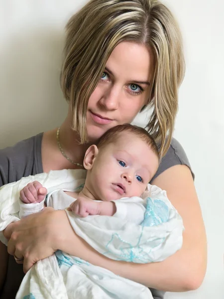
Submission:
[[[19,180],[21,177],[43,172],[41,160],[41,142],[43,133],[20,141],[13,147],[0,149],[0,186]],[[163,157],[159,168],[153,177],[157,177],[164,170],[178,164],[190,163],[181,145],[175,139]],[[194,177],[194,174],[192,172]],[[21,284],[24,273],[22,265],[16,264],[13,256],[9,255],[6,281],[3,286],[1,299],[14,299]],[[154,299],[162,299],[164,292],[151,289]]]

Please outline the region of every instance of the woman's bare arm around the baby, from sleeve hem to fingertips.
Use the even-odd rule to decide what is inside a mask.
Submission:
[[[204,223],[190,169],[185,165],[173,166],[153,183],[167,190],[168,198],[182,216],[185,226],[182,249],[163,262],[133,264],[110,260],[75,234],[65,211],[51,208],[6,228],[5,236],[11,236],[8,252],[15,253],[18,258],[24,256],[25,272],[39,259],[60,249],[154,289],[171,292],[197,289],[205,276],[207,250]]]

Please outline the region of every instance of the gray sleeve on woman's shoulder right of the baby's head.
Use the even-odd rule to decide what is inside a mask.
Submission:
[[[152,180],[155,179],[159,174],[161,174],[166,169],[175,165],[187,165],[191,170],[193,178],[195,177],[185,150],[183,149],[181,144],[175,138],[173,138],[171,141],[171,145],[167,153],[165,154],[165,156],[162,158],[159,164],[159,168],[156,174],[154,175],[154,177],[152,178]]]

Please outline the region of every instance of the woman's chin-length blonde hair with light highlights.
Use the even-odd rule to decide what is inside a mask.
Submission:
[[[162,157],[171,143],[185,66],[181,34],[170,10],[159,0],[91,0],[71,17],[66,30],[61,88],[81,143],[87,142],[89,98],[114,47],[133,41],[152,49],[155,70],[146,105],[153,112],[146,129],[160,144]]]

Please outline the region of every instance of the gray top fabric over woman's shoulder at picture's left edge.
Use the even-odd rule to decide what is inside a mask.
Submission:
[[[42,172],[41,141],[43,133],[0,149],[0,186],[22,176]]]

